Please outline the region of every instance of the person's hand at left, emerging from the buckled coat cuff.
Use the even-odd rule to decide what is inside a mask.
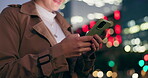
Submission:
[[[93,36],[82,36],[79,34],[72,34],[56,44],[55,49],[60,50],[66,58],[80,56],[83,52],[91,50],[91,41]]]

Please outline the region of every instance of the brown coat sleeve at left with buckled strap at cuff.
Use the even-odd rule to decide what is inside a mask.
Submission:
[[[19,56],[20,29],[13,11],[9,7],[0,14],[0,78],[37,78],[68,70],[64,55],[53,57],[52,49]]]

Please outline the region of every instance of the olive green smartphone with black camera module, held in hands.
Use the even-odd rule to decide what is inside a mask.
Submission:
[[[86,36],[92,36],[95,34],[98,34],[101,36],[102,32],[105,31],[105,29],[112,26],[112,23],[110,21],[99,19],[96,24],[90,29],[88,33],[86,33]]]

